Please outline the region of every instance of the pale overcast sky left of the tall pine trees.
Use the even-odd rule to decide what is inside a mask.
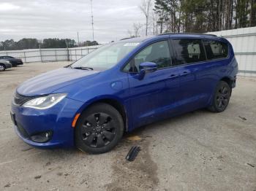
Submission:
[[[94,39],[128,36],[132,23],[144,23],[140,0],[93,0]],[[90,0],[0,0],[0,41],[22,38],[92,39]]]

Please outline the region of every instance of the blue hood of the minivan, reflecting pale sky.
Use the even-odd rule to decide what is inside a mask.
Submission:
[[[26,96],[45,95],[97,73],[99,71],[70,68],[56,69],[23,82],[17,88],[17,92]]]

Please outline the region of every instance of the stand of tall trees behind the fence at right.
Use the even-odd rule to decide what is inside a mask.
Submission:
[[[256,0],[155,0],[160,33],[256,26]]]

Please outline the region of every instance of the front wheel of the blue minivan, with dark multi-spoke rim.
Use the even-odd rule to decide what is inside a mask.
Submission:
[[[121,114],[109,104],[99,103],[83,112],[75,126],[75,144],[91,154],[108,152],[124,133]]]

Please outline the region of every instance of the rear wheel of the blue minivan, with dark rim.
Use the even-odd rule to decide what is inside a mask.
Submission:
[[[208,110],[211,112],[223,112],[230,101],[231,88],[227,82],[219,81]]]

